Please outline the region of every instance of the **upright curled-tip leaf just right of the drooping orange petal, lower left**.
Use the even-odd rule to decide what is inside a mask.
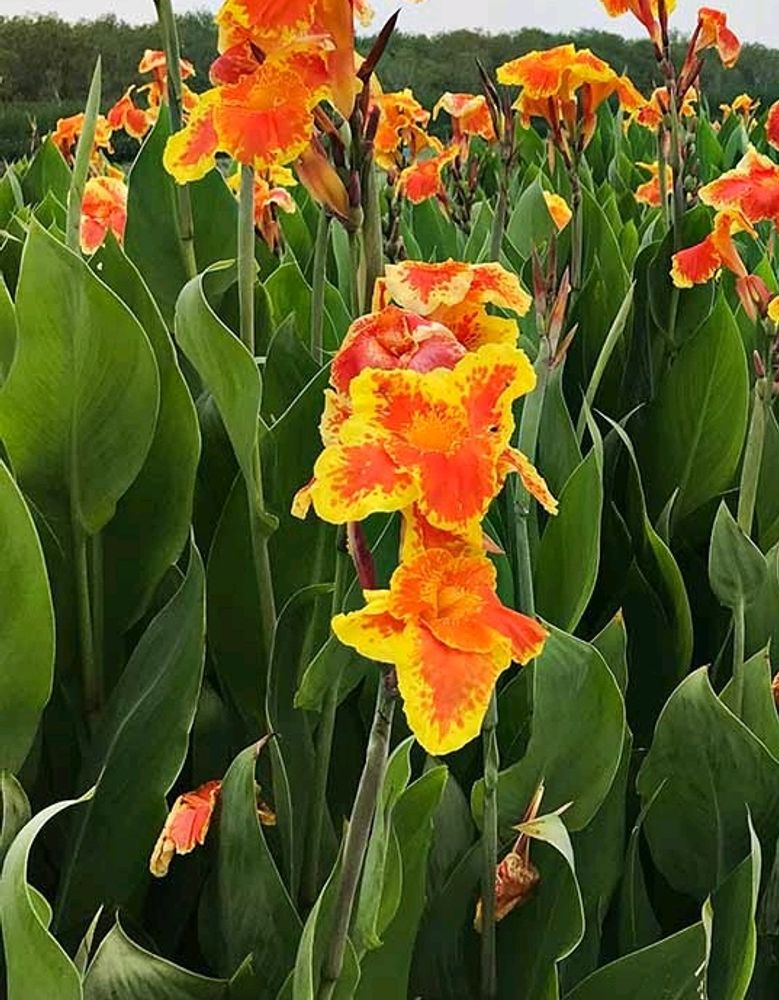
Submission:
[[[275,993],[294,965],[302,925],[257,816],[254,775],[267,741],[243,750],[222,783],[218,847],[201,901],[200,938],[218,973],[233,975],[251,954],[263,991]]]

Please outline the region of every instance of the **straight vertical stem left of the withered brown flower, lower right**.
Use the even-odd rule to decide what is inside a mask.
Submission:
[[[492,1000],[497,994],[495,950],[495,869],[498,864],[498,698],[492,692],[482,725],[484,755],[484,826],[482,829],[482,926],[481,926],[481,996]]]

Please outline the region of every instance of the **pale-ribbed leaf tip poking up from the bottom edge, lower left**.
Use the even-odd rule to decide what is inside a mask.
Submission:
[[[84,1000],[228,1000],[230,984],[182,969],[132,941],[117,921],[84,979]]]

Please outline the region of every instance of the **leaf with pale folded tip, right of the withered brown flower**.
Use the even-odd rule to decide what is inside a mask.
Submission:
[[[547,815],[522,829],[533,838],[530,858],[540,879],[529,900],[498,925],[500,1000],[557,996],[557,963],[584,934],[584,908],[565,825],[559,816]]]

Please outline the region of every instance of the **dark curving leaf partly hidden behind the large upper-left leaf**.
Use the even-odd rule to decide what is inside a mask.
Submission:
[[[146,611],[186,544],[200,432],[170,334],[135,265],[114,239],[103,244],[92,264],[143,327],[160,376],[154,439],[104,537],[107,613],[112,626],[124,630]]]

